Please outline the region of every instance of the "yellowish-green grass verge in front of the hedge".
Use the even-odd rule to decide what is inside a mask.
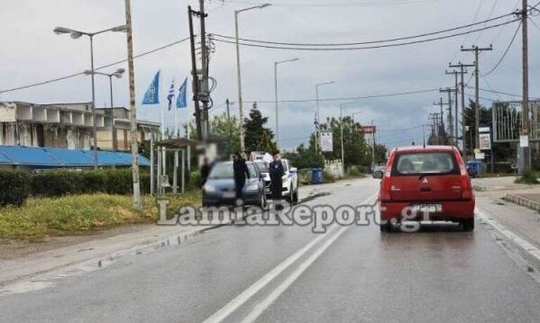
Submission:
[[[200,203],[200,192],[167,196],[169,210]],[[158,220],[155,197],[143,197],[143,210],[133,211],[125,195],[69,195],[30,198],[23,206],[0,208],[0,238],[40,240],[44,237],[79,235],[118,225],[154,223]]]

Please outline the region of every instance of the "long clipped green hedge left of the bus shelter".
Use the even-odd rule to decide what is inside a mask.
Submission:
[[[140,174],[141,193],[150,191],[150,173]],[[29,196],[106,193],[129,195],[133,192],[131,169],[53,170],[39,173],[0,170],[0,206],[21,205]]]

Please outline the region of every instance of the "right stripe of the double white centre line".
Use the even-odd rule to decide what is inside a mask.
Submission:
[[[306,261],[300,264],[297,270],[295,270],[292,275],[285,279],[285,281],[281,283],[281,285],[279,285],[277,289],[272,291],[272,293],[268,297],[266,297],[264,301],[257,304],[257,306],[255,306],[255,308],[250,312],[250,314],[248,314],[248,316],[246,316],[245,319],[242,320],[242,323],[255,322],[255,319],[257,319],[262,314],[262,312],[269,308],[270,305],[272,305],[272,303],[274,303],[274,301],[276,301],[276,299],[278,299],[278,297],[281,296],[281,294],[283,294],[283,292],[286,291],[290,287],[290,285],[293,284],[295,280],[300,277],[300,275],[302,275],[302,273],[307,268],[309,268],[309,266],[314,263],[314,261],[316,261],[317,258],[319,258],[319,256],[321,256],[321,254],[323,254],[323,252],[326,251],[326,249],[328,249],[328,247],[331,246],[335,242],[335,240],[337,240],[348,228],[349,227],[340,228],[340,230],[338,230],[338,233],[328,239],[319,249],[317,249],[317,251],[315,251],[311,256],[309,256]]]

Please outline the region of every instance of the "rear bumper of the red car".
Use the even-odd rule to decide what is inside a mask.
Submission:
[[[442,204],[442,211],[430,213],[429,218],[425,219],[425,215],[421,212],[411,216],[410,206],[413,204]],[[475,200],[470,201],[451,201],[451,202],[380,202],[380,219],[401,220],[465,220],[474,218],[475,216]]]

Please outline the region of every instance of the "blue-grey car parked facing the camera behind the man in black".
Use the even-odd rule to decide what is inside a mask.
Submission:
[[[245,182],[243,197],[245,204],[259,205],[266,208],[264,180],[253,162],[246,162],[250,178]],[[233,162],[219,162],[212,166],[212,171],[203,186],[203,206],[234,205],[236,190],[234,187]]]

